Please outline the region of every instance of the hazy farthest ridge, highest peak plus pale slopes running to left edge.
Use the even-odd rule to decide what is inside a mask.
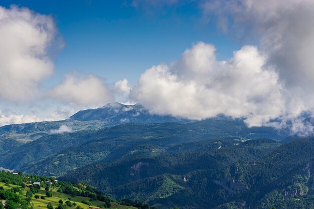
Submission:
[[[0,127],[0,153],[1,141],[7,139],[17,140],[26,143],[39,139],[47,135],[51,130],[59,129],[66,125],[73,131],[86,129],[100,129],[106,126],[114,126],[125,123],[166,123],[177,122],[186,123],[191,120],[150,114],[148,110],[141,105],[123,105],[117,102],[108,103],[107,105],[97,108],[77,112],[67,120],[51,122],[34,122],[24,124],[13,124]]]

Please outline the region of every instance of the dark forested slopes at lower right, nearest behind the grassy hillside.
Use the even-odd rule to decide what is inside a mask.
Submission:
[[[61,179],[159,208],[314,208],[314,138],[96,163]],[[123,171],[123,172],[121,172]]]

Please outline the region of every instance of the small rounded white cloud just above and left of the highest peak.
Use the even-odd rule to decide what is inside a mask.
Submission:
[[[66,103],[80,106],[101,106],[112,102],[109,88],[94,75],[68,74],[66,79],[50,91],[50,95]]]

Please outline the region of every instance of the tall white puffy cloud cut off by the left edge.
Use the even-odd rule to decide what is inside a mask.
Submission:
[[[51,75],[48,48],[56,35],[50,16],[27,8],[0,7],[0,99],[28,100]]]

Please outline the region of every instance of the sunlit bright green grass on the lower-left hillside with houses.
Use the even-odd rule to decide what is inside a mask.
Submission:
[[[17,186],[17,185],[14,185],[14,184],[9,184],[11,187],[8,187],[6,186],[5,183],[2,183],[0,182],[0,186],[3,186],[5,190],[9,190],[13,187],[20,187],[22,188],[21,186]],[[24,188],[24,194],[26,194],[26,192],[29,190],[30,188],[26,187]],[[41,190],[39,191],[39,193],[37,193],[39,196],[46,196],[46,191],[44,188],[41,188]],[[32,198],[32,203],[34,203],[34,209],[47,209],[47,204],[49,202],[52,203],[52,205],[54,207],[57,207],[59,205],[59,200],[61,199],[64,203],[66,200],[69,200],[68,198],[70,197],[71,198],[71,202],[75,202],[77,205],[80,205],[82,206],[84,209],[88,209],[88,205],[87,204],[83,204],[81,201],[82,200],[89,200],[90,198],[89,197],[83,197],[83,196],[71,196],[69,194],[66,194],[66,193],[60,193],[58,191],[56,191],[56,189],[53,190],[53,195],[52,197],[47,197],[46,196],[46,199],[41,199],[41,198],[38,198],[36,199],[33,195],[33,198]],[[91,207],[96,207],[97,204],[104,204],[105,202],[102,202],[102,201],[91,201],[92,202],[92,205]],[[76,206],[71,206],[69,207],[69,209],[75,209]],[[127,208],[131,208],[131,209],[136,209],[136,207],[132,207],[132,206],[125,206],[125,205],[119,205],[115,202],[111,202],[111,207],[110,208],[120,208],[120,209],[127,209]]]

